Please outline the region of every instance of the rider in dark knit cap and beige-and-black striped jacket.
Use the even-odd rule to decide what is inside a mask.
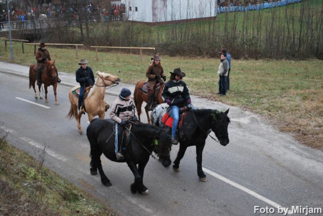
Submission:
[[[119,96],[111,105],[110,118],[115,121],[115,150],[117,160],[124,159],[122,148],[118,150],[118,135],[122,134],[124,126],[130,119],[138,120],[137,110],[133,100],[130,98],[131,91],[127,88],[122,88]],[[119,132],[118,132],[119,131]],[[119,142],[119,145],[121,143]]]

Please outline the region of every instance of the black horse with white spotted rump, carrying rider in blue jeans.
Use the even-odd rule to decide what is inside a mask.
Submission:
[[[159,104],[151,112],[150,119],[153,125],[159,127],[167,127],[162,122],[164,114],[166,113],[167,105]],[[196,146],[196,162],[197,162],[197,175],[202,182],[206,182],[207,178],[202,170],[202,153],[205,145],[205,140],[212,130],[216,134],[221,145],[226,146],[229,143],[228,125],[230,119],[227,116],[229,109],[226,112],[217,110],[201,109],[189,110],[183,118],[182,126],[178,129],[178,140],[180,149],[174,161],[173,170],[180,172],[179,165],[183,158],[187,147]],[[168,128],[168,127],[167,127]],[[169,128],[171,133],[171,128]],[[214,139],[214,138],[213,138]],[[163,158],[160,158],[163,159]],[[169,167],[172,160],[164,158],[162,164],[164,167]]]

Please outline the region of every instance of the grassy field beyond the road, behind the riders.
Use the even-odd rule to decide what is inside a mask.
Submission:
[[[75,73],[79,60],[86,58],[93,71],[112,73],[130,84],[146,80],[145,72],[151,58],[151,55],[144,55],[141,63],[136,53],[127,55],[111,51],[99,52],[97,61],[93,50],[79,50],[76,59],[73,48],[47,46],[47,49],[59,71]],[[25,45],[24,55],[20,43],[14,43],[13,50],[15,60],[11,61],[10,47],[5,51],[4,46],[0,46],[0,61],[21,65],[35,63],[33,46]],[[219,97],[216,93],[220,58],[161,58],[167,75],[178,67],[186,73],[184,81],[191,94],[259,114],[304,145],[323,150],[323,61],[244,61],[234,60],[233,56],[231,90],[226,97]]]

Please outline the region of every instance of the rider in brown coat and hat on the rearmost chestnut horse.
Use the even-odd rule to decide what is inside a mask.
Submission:
[[[46,44],[40,43],[40,47],[37,49],[35,53],[35,58],[37,61],[37,66],[36,66],[36,77],[37,77],[37,85],[41,85],[41,73],[46,67],[46,61],[51,61],[50,55],[48,50],[45,48]],[[56,69],[56,74],[57,74],[57,82],[60,83],[61,79],[59,78],[59,74]]]

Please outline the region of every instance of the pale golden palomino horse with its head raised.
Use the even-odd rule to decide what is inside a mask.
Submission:
[[[97,71],[96,74],[98,77],[95,80],[94,86],[84,99],[85,112],[88,115],[89,122],[92,121],[94,116],[99,116],[100,119],[104,119],[105,112],[107,109],[109,109],[109,105],[104,101],[105,87],[113,84],[118,85],[120,82],[120,78],[115,75],[106,74],[99,71]],[[76,119],[79,133],[82,134],[83,131],[80,123],[82,114],[78,112],[79,97],[73,93],[73,91],[78,88],[80,88],[79,85],[73,87],[69,92],[71,107],[66,117],[70,120],[73,119],[73,117]]]

